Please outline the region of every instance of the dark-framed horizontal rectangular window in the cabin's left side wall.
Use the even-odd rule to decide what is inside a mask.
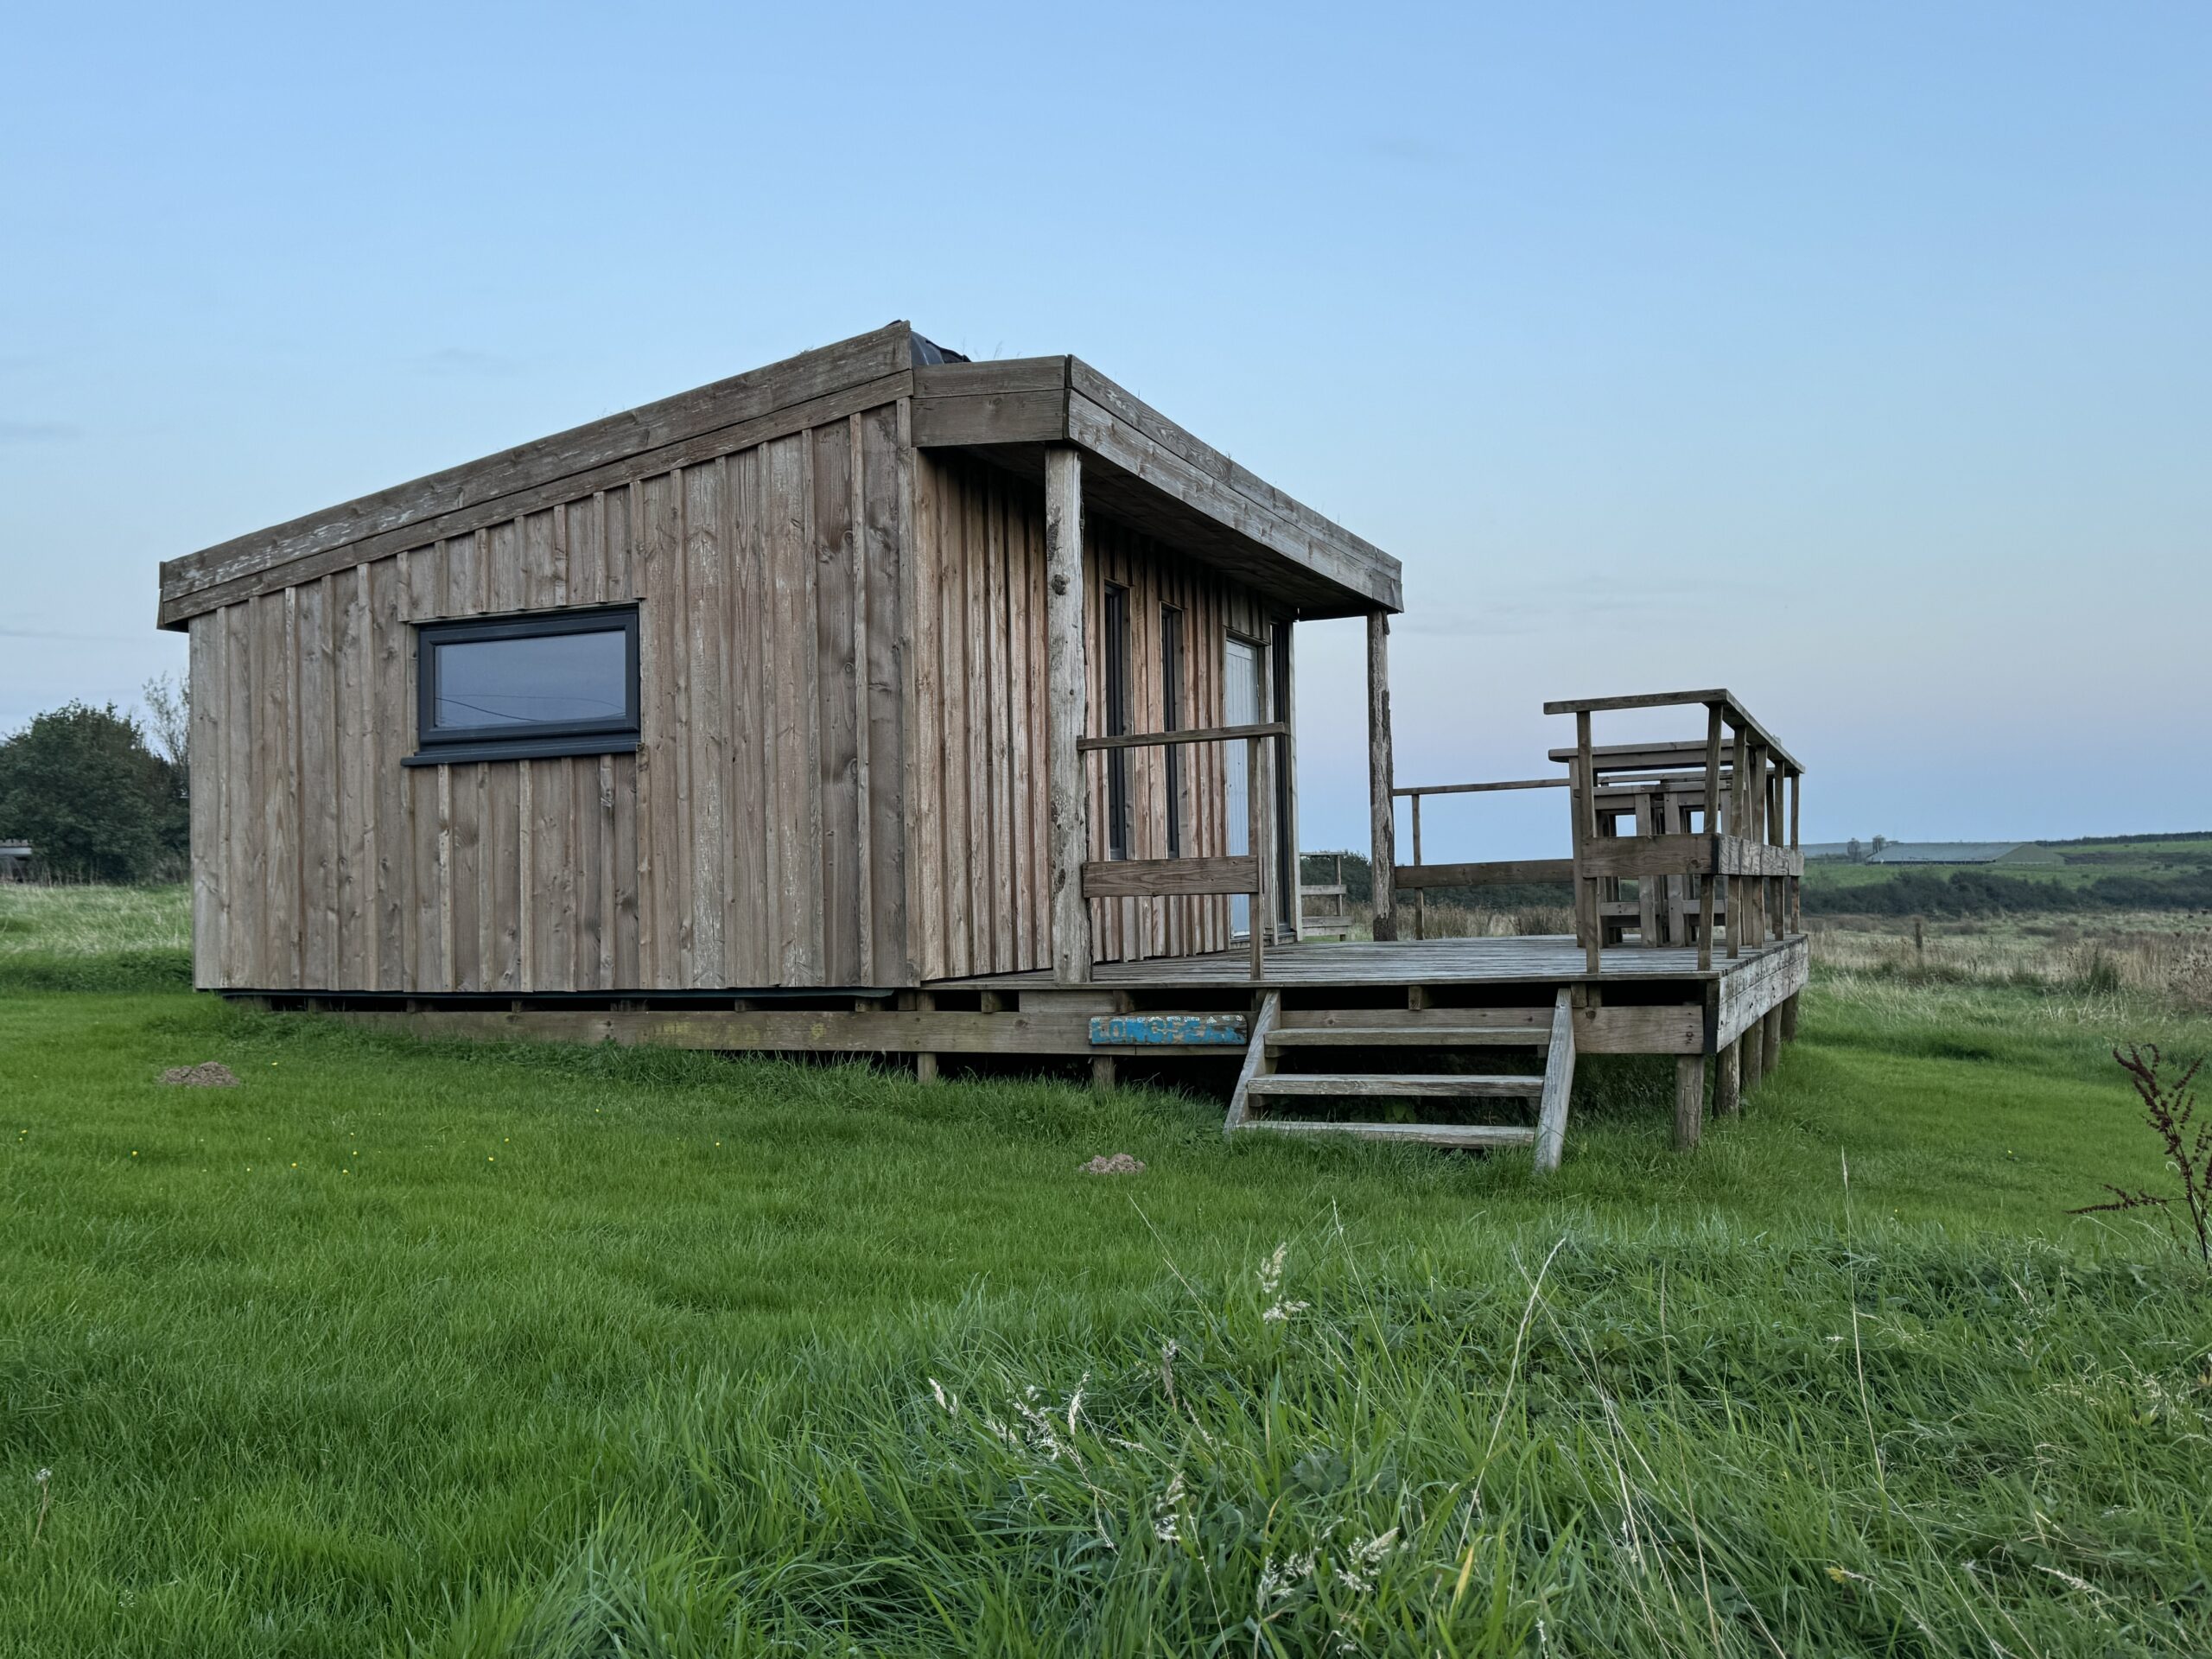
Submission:
[[[637,748],[637,606],[416,628],[409,765]]]

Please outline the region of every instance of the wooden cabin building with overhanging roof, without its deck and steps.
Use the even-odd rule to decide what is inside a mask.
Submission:
[[[1287,730],[1294,622],[1394,608],[1396,560],[1082,361],[967,363],[894,323],[164,564],[197,982],[1048,967],[1051,783],[1084,774],[1077,863],[1250,854],[1254,796],[1241,750],[1077,757],[1053,721]],[[1259,774],[1287,922],[1287,737]],[[1093,960],[1252,931],[1248,898],[1188,883],[1088,911]]]

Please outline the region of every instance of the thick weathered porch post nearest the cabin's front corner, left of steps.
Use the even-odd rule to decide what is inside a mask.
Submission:
[[[1075,748],[1088,717],[1082,467],[1079,449],[1044,451],[1044,792],[1055,984],[1091,980],[1091,902],[1084,898],[1091,792]]]

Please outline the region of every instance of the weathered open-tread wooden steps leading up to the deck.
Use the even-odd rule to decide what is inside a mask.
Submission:
[[[1387,1071],[1380,1055],[1369,1068],[1276,1071],[1287,1055],[1312,1051],[1429,1051],[1535,1048],[1540,1075]],[[1336,1057],[1336,1055],[1332,1055]],[[1345,1055],[1349,1060],[1349,1055]],[[1559,1166],[1566,1144],[1566,1099],[1575,1079],[1573,993],[1559,989],[1544,1009],[1294,1009],[1270,991],[1245,1048],[1243,1073],[1230,1097],[1225,1133],[1358,1135],[1378,1141],[1418,1141],[1460,1148],[1535,1148],[1537,1172]],[[1528,1099],[1535,1124],[1380,1124],[1323,1121],[1263,1115],[1274,1102],[1314,1099]]]

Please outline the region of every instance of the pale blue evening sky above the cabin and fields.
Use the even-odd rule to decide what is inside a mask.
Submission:
[[[2212,827],[2212,11],[18,9],[0,730],[155,564],[894,316],[1407,566],[1402,781],[1730,684],[1807,838]],[[1356,624],[1307,845],[1365,836]],[[1628,728],[1624,728],[1628,730]],[[1431,856],[1555,852],[1557,799]]]

